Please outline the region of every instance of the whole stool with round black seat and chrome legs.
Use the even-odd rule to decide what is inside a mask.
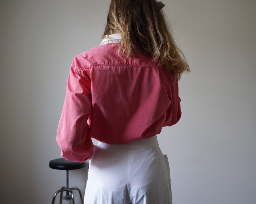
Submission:
[[[49,162],[49,167],[50,168],[66,170],[66,172],[67,172],[67,185],[63,186],[60,190],[55,192],[55,194],[53,196],[52,204],[54,204],[56,195],[58,193],[60,193],[60,204],[62,204],[62,200],[63,199],[64,200],[72,200],[73,204],[74,204],[74,193],[73,193],[73,190],[77,190],[79,192],[82,204],[84,204],[84,200],[83,200],[82,193],[81,193],[80,189],[77,188],[77,187],[73,187],[73,188],[69,188],[68,187],[68,171],[69,170],[74,170],[74,169],[84,168],[85,165],[86,165],[85,162],[82,162],[82,163],[80,163],[80,162],[70,162],[70,161],[65,160],[64,158],[54,159],[54,160],[51,160]],[[62,196],[64,191],[66,191],[66,195]]]

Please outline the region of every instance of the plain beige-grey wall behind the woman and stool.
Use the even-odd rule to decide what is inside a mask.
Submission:
[[[159,135],[173,203],[256,200],[256,3],[163,1],[192,72],[180,81],[182,119]],[[108,0],[0,2],[2,203],[50,203],[65,172],[56,129],[72,58],[101,42]],[[86,169],[70,171],[84,191]]]

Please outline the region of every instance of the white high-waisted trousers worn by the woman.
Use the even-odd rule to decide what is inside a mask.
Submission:
[[[84,204],[171,204],[169,163],[157,137],[125,145],[98,142]]]

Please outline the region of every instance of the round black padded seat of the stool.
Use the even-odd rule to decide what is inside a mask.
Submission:
[[[81,169],[86,166],[85,162],[70,162],[64,158],[54,159],[49,162],[49,167],[59,170],[74,170]]]

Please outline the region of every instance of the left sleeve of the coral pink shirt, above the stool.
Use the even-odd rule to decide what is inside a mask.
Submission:
[[[87,124],[92,111],[90,69],[79,67],[79,60],[74,58],[56,137],[62,157],[74,162],[87,160],[94,149]]]

